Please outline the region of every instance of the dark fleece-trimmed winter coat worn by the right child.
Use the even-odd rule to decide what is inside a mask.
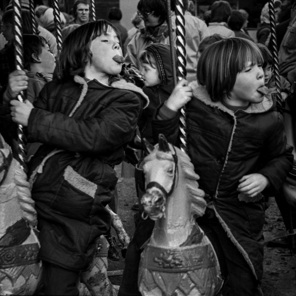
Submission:
[[[282,116],[274,102],[264,97],[235,113],[221,102],[212,102],[204,87],[192,82],[194,97],[186,105],[188,152],[199,186],[206,193],[231,241],[237,246],[255,277],[262,277],[264,201],[239,194],[239,180],[259,173],[280,189],[292,169],[293,155],[286,148]],[[153,120],[153,134],[164,134],[177,144],[179,116]],[[290,150],[291,151],[291,150]]]

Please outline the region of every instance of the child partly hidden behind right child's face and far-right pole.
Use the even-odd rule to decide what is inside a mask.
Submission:
[[[275,78],[274,78],[273,68],[272,68],[272,65],[273,65],[272,55],[269,49],[265,45],[261,43],[257,43],[257,46],[259,47],[263,56],[262,69],[264,72],[264,85],[266,85],[268,88],[274,88]],[[280,75],[280,88],[281,88],[281,95],[282,95],[283,101],[287,99],[290,93],[290,86],[291,86],[290,82]]]

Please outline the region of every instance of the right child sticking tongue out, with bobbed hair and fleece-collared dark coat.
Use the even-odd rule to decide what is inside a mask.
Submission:
[[[187,145],[208,208],[197,222],[219,249],[223,295],[261,296],[264,199],[292,168],[282,116],[262,94],[259,48],[243,38],[212,44],[200,57],[193,99],[186,105]],[[174,92],[173,92],[174,94]],[[153,135],[178,143],[180,108],[172,96],[153,120]],[[167,112],[169,111],[169,112]],[[175,111],[175,116],[172,116]],[[223,264],[224,263],[224,264]]]

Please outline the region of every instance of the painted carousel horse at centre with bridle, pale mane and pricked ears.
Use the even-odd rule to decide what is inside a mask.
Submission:
[[[143,219],[155,221],[144,244],[138,284],[143,296],[214,296],[222,287],[214,248],[196,224],[206,208],[190,158],[159,135],[146,142]],[[145,217],[145,215],[148,215]]]

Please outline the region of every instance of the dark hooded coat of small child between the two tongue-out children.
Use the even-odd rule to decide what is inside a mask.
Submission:
[[[141,138],[146,138],[150,143],[153,143],[151,125],[153,114],[157,107],[169,98],[174,89],[173,70],[170,45],[152,43],[148,45],[145,50],[148,50],[153,54],[161,79],[161,82],[158,85],[143,87],[144,93],[149,98],[149,105],[145,110],[143,110],[143,113],[138,121]],[[175,61],[177,61],[176,50]]]

